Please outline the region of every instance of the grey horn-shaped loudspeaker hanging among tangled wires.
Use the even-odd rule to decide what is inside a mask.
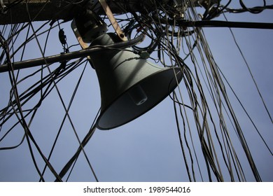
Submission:
[[[116,35],[103,34],[92,45],[110,45]],[[138,118],[165,99],[182,79],[179,67],[156,66],[132,49],[108,48],[90,59],[99,80],[102,107],[97,128],[110,130]]]

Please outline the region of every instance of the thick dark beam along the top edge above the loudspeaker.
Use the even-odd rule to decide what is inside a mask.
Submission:
[[[154,10],[155,6],[153,6],[153,3],[155,1],[160,1],[162,5],[168,6],[170,6],[169,3],[173,3],[173,7],[182,5],[177,3],[181,3],[181,1],[174,0],[106,0],[109,8],[114,14],[128,13],[130,11],[146,11],[144,10],[144,7],[147,10]],[[184,0],[182,2],[186,3],[186,1],[187,0]],[[194,6],[200,6],[200,3],[207,2],[206,0],[199,0],[199,3],[197,3],[197,0],[192,1],[195,3]],[[215,1],[218,0],[211,0],[209,2]],[[102,6],[98,3],[98,0],[78,0],[78,2],[79,3],[71,3],[71,1],[62,0],[0,0],[0,25],[29,22],[29,18],[31,21],[72,20],[88,6],[93,8],[94,12],[99,15],[105,14]]]

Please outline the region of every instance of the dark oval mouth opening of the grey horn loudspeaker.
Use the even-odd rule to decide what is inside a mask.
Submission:
[[[179,67],[163,69],[140,80],[101,111],[96,123],[97,128],[111,130],[150,111],[177,87],[175,77],[178,82],[182,80]]]

